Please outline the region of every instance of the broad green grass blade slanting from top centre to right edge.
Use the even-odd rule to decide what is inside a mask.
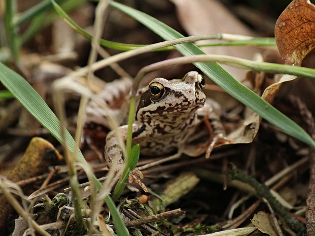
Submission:
[[[170,28],[157,19],[135,10],[131,7],[118,2],[111,1],[110,5],[120,9],[127,15],[139,21],[152,31],[156,32],[164,40],[171,40],[184,37],[176,30]],[[183,56],[205,54],[193,43],[185,43],[174,46]],[[251,108],[254,112],[265,118],[270,123],[282,129],[287,134],[315,147],[314,140],[303,130],[298,124],[286,117],[272,105],[263,100],[252,90],[246,88],[237,80],[235,80],[227,71],[225,71],[218,63],[215,62],[197,62],[194,63],[201,71],[209,76],[217,85],[224,89],[231,96]]]

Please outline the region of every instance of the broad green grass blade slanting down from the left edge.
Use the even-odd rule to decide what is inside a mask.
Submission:
[[[59,119],[26,80],[4,64],[0,63],[0,82],[12,92],[16,99],[22,103],[34,118],[36,118],[61,144],[63,144]],[[75,142],[66,129],[65,139],[70,151],[73,152],[75,150]],[[77,151],[77,158],[79,161],[86,163],[80,150]],[[101,183],[96,177],[94,177],[94,180],[97,188],[101,189]],[[129,233],[126,226],[109,195],[105,197],[105,202],[111,210],[118,235],[128,236]]]

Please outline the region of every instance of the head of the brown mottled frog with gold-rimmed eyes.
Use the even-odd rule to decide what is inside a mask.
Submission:
[[[188,72],[182,80],[152,80],[141,96],[137,118],[191,114],[206,100],[204,78],[196,71]]]

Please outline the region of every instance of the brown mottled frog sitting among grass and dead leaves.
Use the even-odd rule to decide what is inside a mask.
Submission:
[[[140,145],[141,156],[199,155],[199,151],[191,152],[185,147],[200,136],[200,126],[201,132],[206,130],[209,134],[208,156],[216,146],[230,143],[221,123],[218,103],[206,97],[204,88],[205,79],[201,74],[190,71],[182,79],[155,78],[139,90],[132,145]],[[124,141],[127,128],[127,125],[118,128]],[[201,149],[204,152],[204,148]],[[117,160],[115,157],[118,158],[117,171],[122,168],[122,148],[114,130],[107,134],[104,155],[109,168]]]

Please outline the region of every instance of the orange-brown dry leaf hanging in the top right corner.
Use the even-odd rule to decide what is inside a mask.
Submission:
[[[293,0],[277,20],[275,38],[285,64],[301,65],[315,48],[315,6],[309,0]]]

